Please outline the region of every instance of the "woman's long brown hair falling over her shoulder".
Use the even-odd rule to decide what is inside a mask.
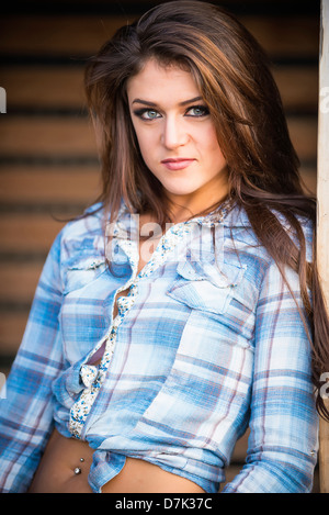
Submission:
[[[287,265],[299,275],[311,327],[316,405],[329,421],[319,394],[325,382],[321,374],[329,371],[329,322],[316,266],[316,237],[310,265],[300,225],[302,216],[316,227],[316,200],[302,187],[298,157],[268,58],[253,36],[224,9],[189,0],[159,4],[120,29],[90,59],[86,91],[100,135],[103,191],[99,200],[112,222],[122,199],[132,211],[152,213],[160,225],[170,221],[161,183],[141,158],[127,104],[127,80],[149,58],[192,72],[226,157],[229,198],[246,210],[256,235],[282,273]],[[297,245],[274,210],[293,227]]]

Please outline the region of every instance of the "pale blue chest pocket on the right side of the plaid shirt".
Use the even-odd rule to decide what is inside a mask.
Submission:
[[[246,269],[222,262],[220,266],[203,261],[180,262],[179,278],[168,295],[194,309],[223,314],[243,278]]]

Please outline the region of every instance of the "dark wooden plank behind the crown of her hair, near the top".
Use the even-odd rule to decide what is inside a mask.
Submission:
[[[138,18],[138,16],[137,16]],[[90,56],[136,15],[2,15],[1,52],[8,55]],[[270,55],[316,57],[314,16],[239,16]]]

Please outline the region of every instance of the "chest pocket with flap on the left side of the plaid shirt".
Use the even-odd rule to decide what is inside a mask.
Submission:
[[[67,266],[65,293],[83,288],[106,270],[103,257],[87,257]]]

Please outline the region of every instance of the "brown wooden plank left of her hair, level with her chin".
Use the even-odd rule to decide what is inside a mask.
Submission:
[[[87,205],[101,192],[99,166],[5,166],[0,169],[0,202]]]

